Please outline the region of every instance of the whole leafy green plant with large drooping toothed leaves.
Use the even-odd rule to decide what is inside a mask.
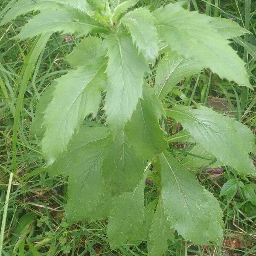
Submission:
[[[58,31],[84,37],[67,56],[74,70],[41,97],[31,131],[44,134],[49,175],[69,176],[70,223],[108,217],[112,247],[147,239],[151,255],[165,252],[175,230],[195,244],[218,243],[218,201],[183,166],[171,142],[190,142],[204,151],[202,166],[218,160],[239,175],[255,177],[248,156],[254,136],[210,108],[171,104],[164,109],[162,102],[175,84],[203,68],[251,87],[227,40],[249,32],[231,20],[189,12],[184,2],[153,12],[131,10],[136,3],[20,0],[12,6],[1,24],[40,10],[23,26],[20,39]],[[154,86],[149,66],[156,67]],[[94,122],[84,121],[87,116]],[[167,138],[166,116],[183,126],[175,137]],[[145,206],[148,175],[159,196]]]

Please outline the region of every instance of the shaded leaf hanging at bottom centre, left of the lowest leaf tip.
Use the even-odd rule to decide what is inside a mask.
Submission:
[[[126,243],[140,244],[145,239],[144,220],[145,177],[131,192],[113,198],[108,217],[107,235],[111,248]]]

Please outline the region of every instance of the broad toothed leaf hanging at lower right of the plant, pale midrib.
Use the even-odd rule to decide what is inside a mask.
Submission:
[[[170,153],[160,154],[160,164],[163,209],[172,227],[193,244],[220,243],[218,201]]]

